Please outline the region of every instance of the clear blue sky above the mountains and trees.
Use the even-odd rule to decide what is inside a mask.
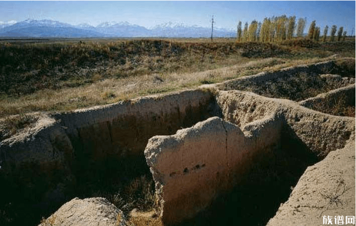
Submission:
[[[307,32],[316,20],[321,32],[327,25],[343,26],[355,34],[355,1],[0,1],[0,22],[26,19],[54,20],[71,25],[129,22],[152,28],[166,22],[236,29],[266,17],[306,18]]]

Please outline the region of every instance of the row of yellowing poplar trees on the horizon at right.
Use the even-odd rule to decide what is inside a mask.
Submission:
[[[278,42],[282,40],[289,40],[296,37],[303,37],[305,29],[306,18],[299,18],[296,23],[295,16],[287,17],[285,15],[280,17],[265,18],[263,23],[254,20],[250,26],[245,24],[244,30],[242,29],[242,23],[239,21],[237,39],[239,42]],[[337,27],[333,25],[330,31],[329,41],[335,41],[335,33]],[[322,41],[327,40],[328,26],[325,26]],[[343,27],[339,28],[337,33],[337,41],[341,41],[341,37],[344,40],[346,31],[343,31]],[[313,21],[310,24],[307,38],[319,41],[320,39],[320,27],[316,26],[316,22]]]

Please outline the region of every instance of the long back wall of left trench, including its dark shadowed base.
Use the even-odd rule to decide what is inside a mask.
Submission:
[[[214,101],[210,92],[187,90],[55,117],[72,143],[77,177],[95,181],[118,171],[127,179],[148,172],[143,151],[149,138],[219,114]]]

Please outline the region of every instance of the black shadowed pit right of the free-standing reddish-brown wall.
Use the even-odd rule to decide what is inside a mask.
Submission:
[[[219,195],[206,210],[179,225],[266,225],[306,167],[318,161],[290,131],[283,129],[279,144],[253,157],[253,166],[229,193]]]

